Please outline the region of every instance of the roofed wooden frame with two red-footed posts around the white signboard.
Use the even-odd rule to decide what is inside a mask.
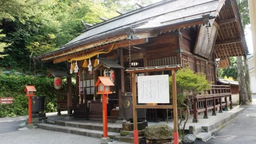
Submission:
[[[132,84],[132,111],[133,111],[133,137],[134,144],[138,144],[138,120],[137,109],[173,109],[173,136],[174,144],[178,144],[178,123],[177,123],[177,88],[176,88],[176,70],[181,69],[181,65],[166,65],[156,67],[140,67],[140,68],[128,68],[127,73],[131,73]],[[159,72],[159,71],[171,71],[172,75],[172,98],[173,105],[136,105],[136,73],[138,72]]]

